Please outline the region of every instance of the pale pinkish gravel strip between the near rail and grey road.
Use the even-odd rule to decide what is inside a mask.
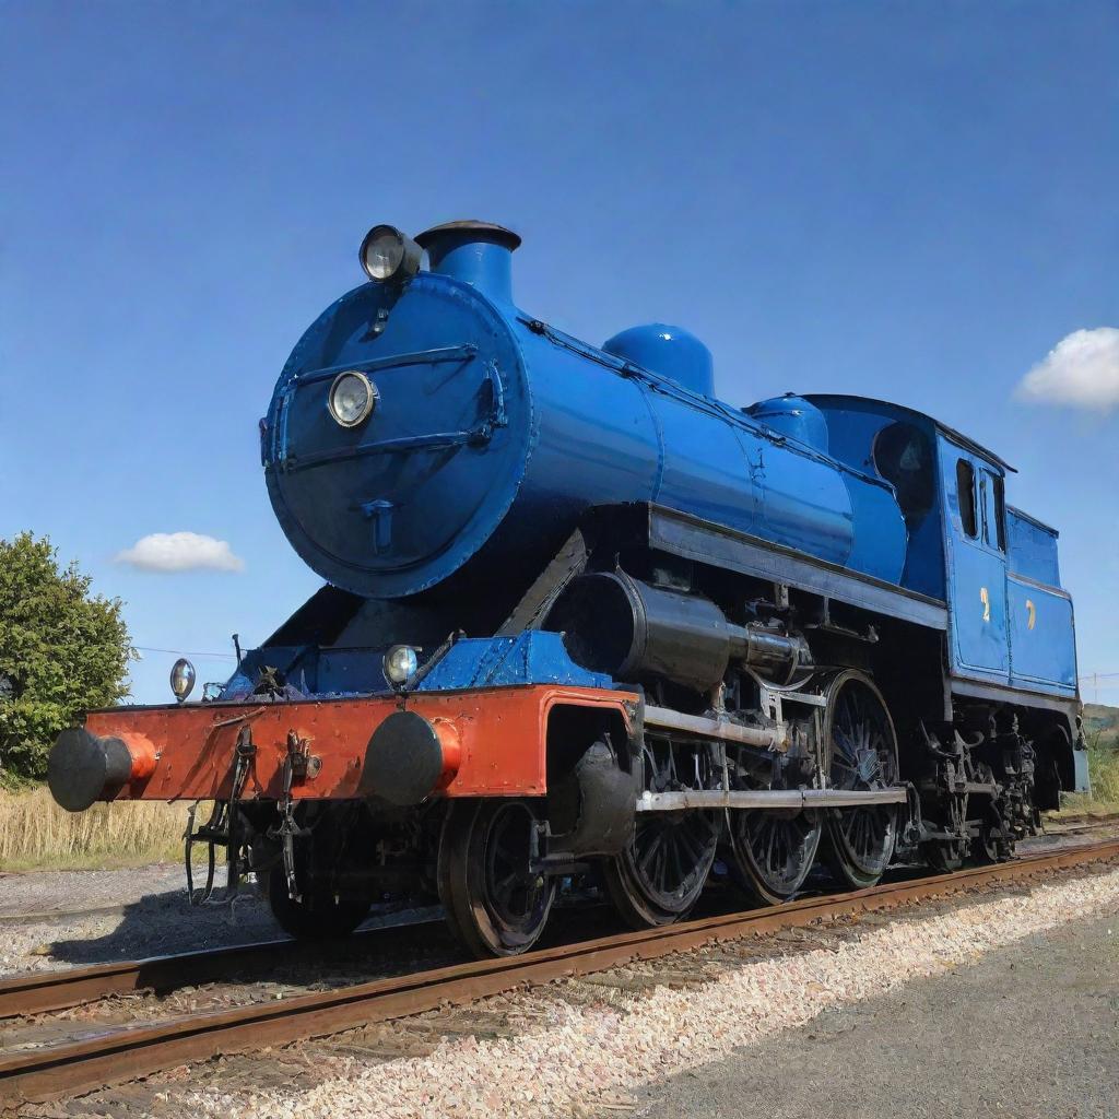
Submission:
[[[587,984],[560,982],[516,996],[524,1021],[535,1023],[516,1036],[457,1037],[426,1056],[379,1064],[320,1056],[320,1082],[307,1089],[231,1092],[214,1076],[213,1087],[189,1087],[194,1080],[169,1084],[159,1099],[190,1115],[223,1119],[481,1119],[495,1113],[540,1119],[632,1111],[634,1093],[646,1085],[717,1062],[827,1010],[971,966],[995,949],[1111,915],[1117,908],[1119,869],[1111,869],[934,915],[867,922],[869,931],[821,941],[825,947],[801,944],[724,966],[702,986],[658,986],[632,998],[603,994],[587,1002]],[[666,966],[679,969],[689,959],[697,970],[704,955]],[[582,997],[574,997],[579,991]],[[254,1060],[263,1069],[270,1055]]]

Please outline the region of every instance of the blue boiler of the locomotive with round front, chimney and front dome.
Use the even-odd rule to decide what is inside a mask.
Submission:
[[[329,582],[416,594],[483,548],[479,563],[532,568],[589,507],[624,501],[899,580],[905,527],[890,486],[704,395],[702,342],[637,328],[613,340],[632,357],[608,354],[506,302],[511,235],[430,236],[438,271],[403,290],[368,283],[330,307],[293,350],[264,421],[276,516]],[[379,394],[355,429],[327,410],[345,369]]]

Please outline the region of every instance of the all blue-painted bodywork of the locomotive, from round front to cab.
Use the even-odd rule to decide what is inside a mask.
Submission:
[[[507,231],[423,239],[431,271],[365,284],[312,325],[264,422],[276,515],[331,583],[398,599],[471,564],[539,570],[587,508],[651,501],[946,600],[953,677],[1074,694],[1055,535],[1012,511],[998,538],[996,455],[881,401],[788,395],[744,413],[714,396],[711,355],[686,331],[637,327],[599,349],[517,311]],[[345,369],[379,394],[357,429],[327,410]],[[977,479],[975,538],[960,458]],[[316,694],[375,690],[380,651],[308,652],[297,667]],[[424,689],[609,686],[561,651],[544,636],[462,641]]]

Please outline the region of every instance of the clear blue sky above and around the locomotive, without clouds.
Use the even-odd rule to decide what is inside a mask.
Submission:
[[[1119,406],[1015,396],[1119,327],[1117,58],[1087,0],[0,0],[0,536],[49,534],[141,647],[260,641],[318,585],[257,459],[289,350],[370,225],[482,217],[573,333],[678,322],[734,403],[883,396],[995,449],[1061,528],[1081,671],[1119,673]],[[244,570],[114,562],[173,532]]]

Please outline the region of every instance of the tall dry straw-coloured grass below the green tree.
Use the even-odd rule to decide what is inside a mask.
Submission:
[[[208,811],[208,806],[203,806]],[[205,816],[201,815],[201,819]],[[45,788],[0,790],[0,869],[139,866],[182,857],[186,805],[122,801],[59,808]]]

